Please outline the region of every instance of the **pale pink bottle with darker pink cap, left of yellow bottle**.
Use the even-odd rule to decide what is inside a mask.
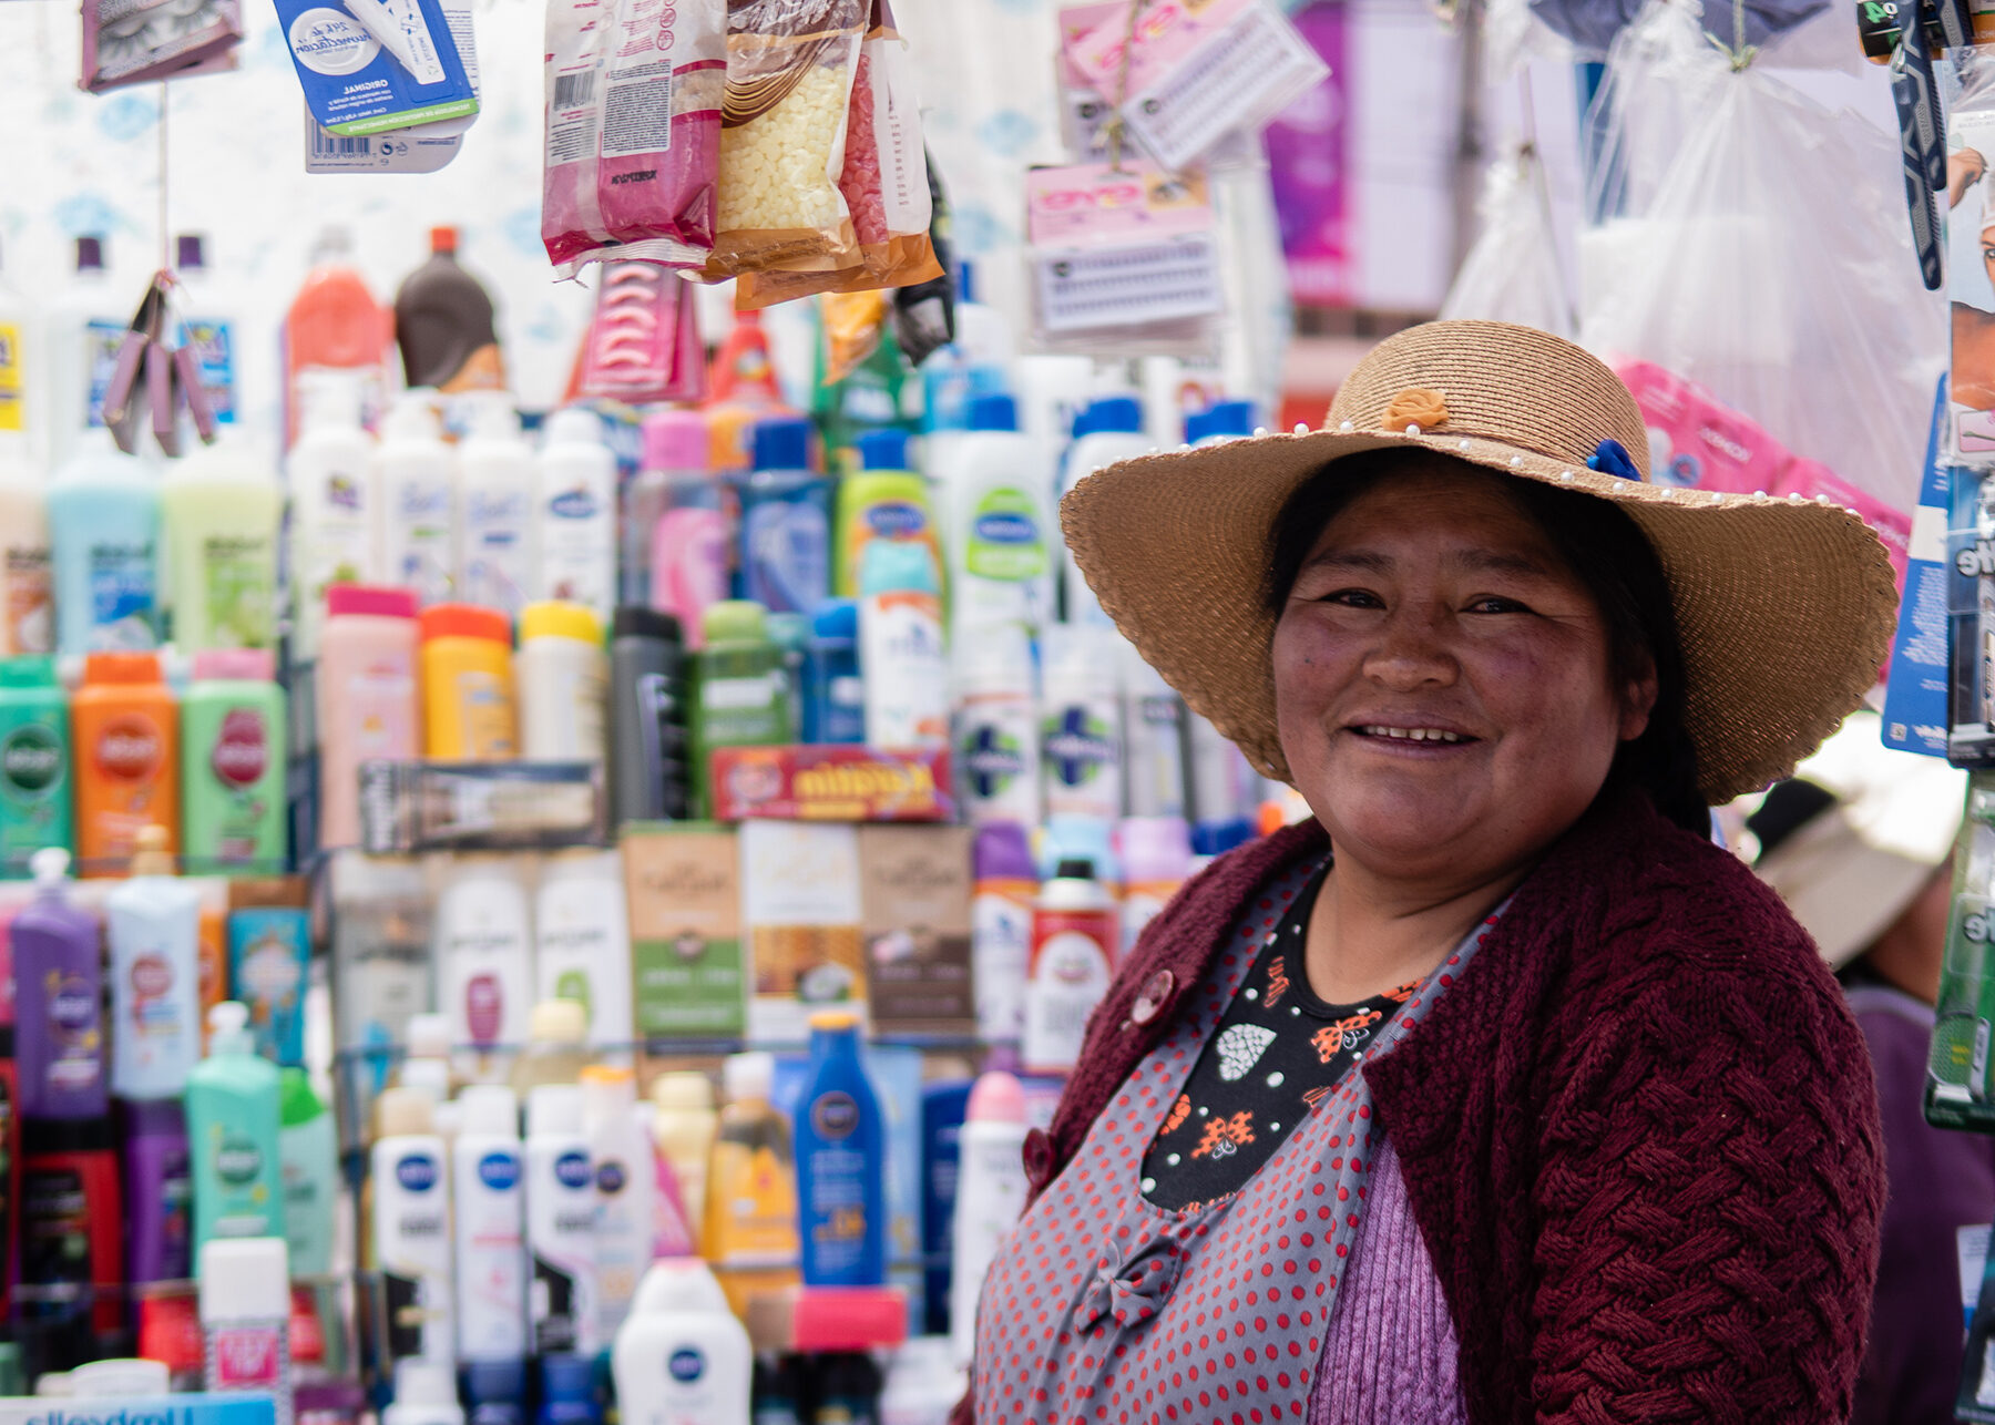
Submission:
[[[319,639],[319,846],[361,840],[363,762],[421,756],[417,603],[407,589],[333,585]]]

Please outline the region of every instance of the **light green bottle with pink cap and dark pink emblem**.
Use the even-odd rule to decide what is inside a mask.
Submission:
[[[273,677],[263,649],[194,655],[180,705],[180,842],[190,876],[283,870],[289,742],[285,693]]]

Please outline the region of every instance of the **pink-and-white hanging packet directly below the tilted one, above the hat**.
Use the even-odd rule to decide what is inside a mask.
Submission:
[[[1225,309],[1205,176],[1149,162],[1025,174],[1033,325],[1045,351],[1199,355]]]

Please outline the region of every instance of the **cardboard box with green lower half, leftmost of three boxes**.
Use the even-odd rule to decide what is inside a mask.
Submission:
[[[646,822],[622,834],[638,1038],[746,1028],[740,852],[732,830]]]

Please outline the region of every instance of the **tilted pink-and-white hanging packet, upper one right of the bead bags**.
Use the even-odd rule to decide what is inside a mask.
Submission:
[[[1065,54],[1165,168],[1259,130],[1331,72],[1271,0],[1125,0]]]

